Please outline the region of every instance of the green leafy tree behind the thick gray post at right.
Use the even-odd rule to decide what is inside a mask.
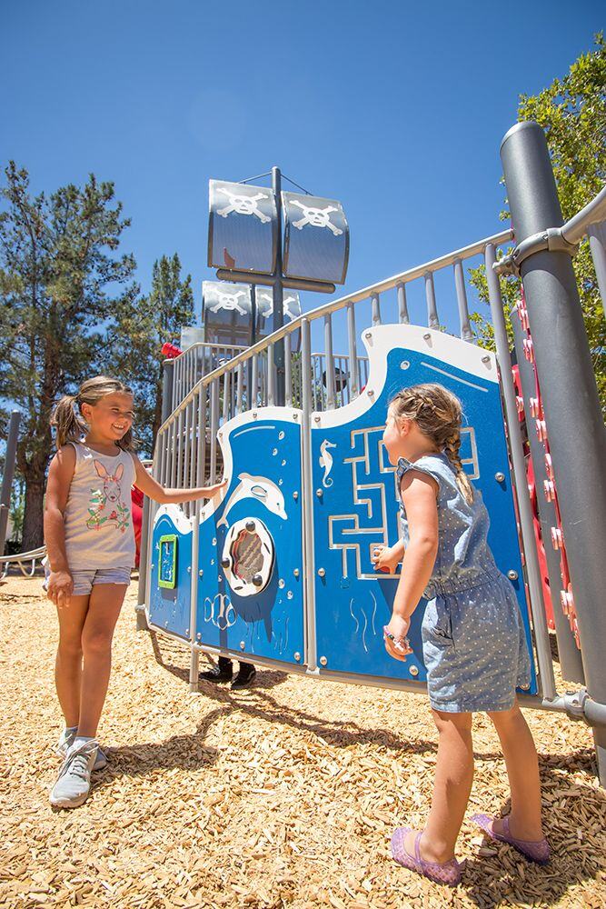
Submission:
[[[606,44],[596,35],[595,48],[576,60],[567,75],[554,79],[539,95],[522,95],[518,120],[535,120],[547,135],[561,211],[567,221],[597,195],[606,180]],[[502,212],[502,220],[509,220]],[[546,227],[552,225],[545,225]],[[606,408],[606,321],[591,259],[589,242],[583,240],[573,260],[579,285],[585,329],[593,358],[602,406]],[[488,303],[484,267],[471,269],[472,285]],[[515,277],[502,279],[506,315],[520,297]],[[492,325],[482,313],[472,314],[478,343],[494,349]],[[511,324],[508,324],[511,335]]]

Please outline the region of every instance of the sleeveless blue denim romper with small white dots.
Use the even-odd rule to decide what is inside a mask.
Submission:
[[[445,454],[414,463],[400,458],[398,490],[408,470],[429,474],[439,486],[439,541],[423,596],[423,662],[435,710],[448,713],[509,710],[516,686],[530,683],[522,615],[511,582],[497,568],[487,537],[482,494],[468,504]],[[401,504],[404,545],[409,532]]]

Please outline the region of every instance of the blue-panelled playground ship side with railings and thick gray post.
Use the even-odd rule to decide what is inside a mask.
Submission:
[[[146,503],[139,613],[189,648],[192,690],[204,651],[423,691],[422,609],[413,616],[413,654],[395,664],[380,629],[397,575],[377,576],[370,553],[398,535],[397,491],[380,441],[387,404],[404,384],[442,382],[462,398],[463,463],[489,508],[492,551],[526,624],[534,672],[522,704],[591,724],[606,784],[603,424],[571,265],[574,245],[591,230],[603,298],[606,254],[592,225],[604,220],[606,191],[562,226],[540,127],[514,126],[502,160],[515,235],[502,231],[314,309],[210,372],[195,367],[204,345],[174,360],[172,411],[157,436],[154,475],[187,487],[224,474],[229,484],[221,501],[204,505]],[[512,255],[498,260],[512,240]],[[496,355],[472,344],[465,271],[479,259]],[[522,276],[513,316],[522,402],[494,265]],[[451,268],[460,338],[440,330],[436,304]],[[420,292],[428,327],[411,325],[409,307]],[[359,355],[360,325],[367,358]],[[339,361],[333,341],[341,336],[347,354]],[[520,404],[561,668],[586,686],[576,694],[558,693],[554,682]],[[581,469],[591,480],[581,481]]]

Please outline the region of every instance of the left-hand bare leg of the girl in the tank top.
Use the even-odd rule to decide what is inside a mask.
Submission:
[[[77,726],[82,680],[82,629],[89,594],[72,596],[68,606],[57,609],[59,646],[55,659],[55,686],[66,726]]]

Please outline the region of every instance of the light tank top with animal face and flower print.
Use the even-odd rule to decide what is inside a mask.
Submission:
[[[70,445],[75,448],[75,470],[64,514],[70,570],[132,568],[133,456],[122,451],[99,454],[78,442]]]

